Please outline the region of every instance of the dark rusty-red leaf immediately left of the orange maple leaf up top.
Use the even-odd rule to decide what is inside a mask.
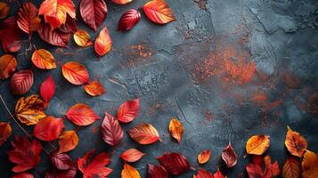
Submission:
[[[37,7],[30,2],[22,5],[17,16],[17,23],[22,31],[27,34],[37,31],[41,23],[41,19],[37,16],[37,12]]]

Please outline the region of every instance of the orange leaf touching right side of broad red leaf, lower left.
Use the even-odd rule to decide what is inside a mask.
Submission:
[[[59,153],[68,152],[74,150],[78,144],[78,136],[75,131],[64,131],[60,135],[59,139]]]

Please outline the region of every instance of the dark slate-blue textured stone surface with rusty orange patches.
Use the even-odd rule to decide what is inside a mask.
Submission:
[[[40,2],[36,2],[37,7]],[[146,153],[133,164],[143,177],[146,164],[158,164],[155,158],[164,152],[183,152],[192,166],[198,167],[196,156],[206,149],[212,150],[212,159],[201,167],[214,172],[220,166],[228,177],[246,177],[244,167],[249,158],[243,156],[247,139],[253,134],[269,134],[272,143],[266,154],[282,165],[286,157],[286,125],[306,137],[309,150],[318,151],[316,0],[167,0],[175,22],[159,26],[143,14],[133,30],[116,31],[120,15],[145,2],[135,0],[124,6],[107,2],[109,14],[103,26],[110,30],[113,49],[101,59],[93,48],[78,48],[73,40],[68,48],[57,48],[33,36],[33,44],[51,51],[57,61],[85,64],[90,78],[98,78],[107,89],[107,93],[93,98],[81,86],[70,85],[61,76],[61,68],[33,68],[35,84],[26,95],[38,93],[48,74],[57,84],[56,94],[46,109],[48,115],[63,117],[71,105],[85,102],[103,117],[104,111],[115,114],[121,102],[141,97],[140,115],[123,128],[127,131],[138,123],[151,123],[163,142],[140,146],[125,134],[112,158],[110,167],[114,171],[110,177],[120,176],[123,162],[118,157],[132,147]],[[12,3],[11,7],[13,15],[18,5]],[[78,9],[77,23],[96,36],[81,20]],[[17,55],[17,59],[18,69],[31,68],[30,53]],[[10,93],[8,84],[9,80],[1,81],[0,93],[13,111],[19,96]],[[0,116],[2,121],[10,120],[3,105]],[[173,116],[181,120],[185,129],[180,144],[167,131]],[[100,137],[101,122],[79,130],[77,149],[69,153],[74,160],[92,149],[111,151]],[[74,128],[68,120],[65,124],[68,129]],[[22,134],[13,122],[12,126],[13,134]],[[32,132],[33,128],[28,129]],[[11,149],[10,141],[0,148],[1,177],[12,176],[13,165],[5,154]],[[237,166],[226,170],[220,154],[229,141],[240,159]],[[47,143],[43,144],[51,150]],[[41,163],[32,172],[44,177],[49,168],[43,153]],[[192,177],[193,173],[179,177]]]

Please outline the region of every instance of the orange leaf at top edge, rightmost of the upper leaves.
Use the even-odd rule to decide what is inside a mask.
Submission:
[[[151,0],[144,4],[143,12],[149,20],[158,24],[166,24],[175,20],[174,14],[164,0]]]

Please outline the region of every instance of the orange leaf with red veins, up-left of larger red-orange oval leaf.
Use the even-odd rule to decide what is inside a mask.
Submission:
[[[55,69],[56,64],[52,53],[45,49],[39,49],[33,52],[31,60],[38,69]]]

